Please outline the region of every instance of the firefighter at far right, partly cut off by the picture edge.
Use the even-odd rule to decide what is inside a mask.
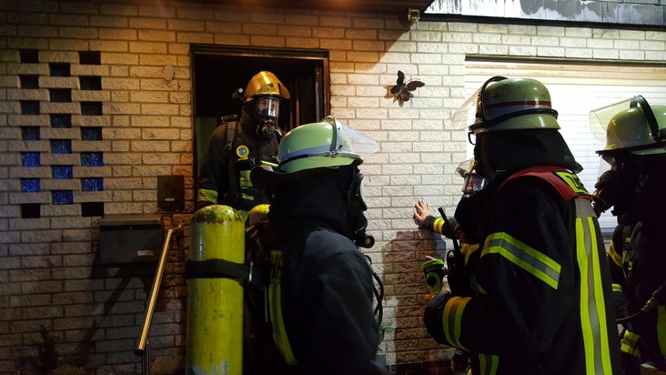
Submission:
[[[595,194],[618,220],[609,248],[613,297],[622,325],[626,375],[666,373],[666,106],[642,96],[592,111],[593,133],[605,128],[597,151],[601,168]],[[608,122],[600,123],[610,117]],[[607,125],[606,125],[607,124]],[[642,372],[641,372],[642,371]]]

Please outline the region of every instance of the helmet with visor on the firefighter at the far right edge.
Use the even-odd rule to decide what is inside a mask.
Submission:
[[[606,129],[606,146],[600,155],[631,152],[634,155],[666,153],[666,106],[650,106],[642,96],[607,107],[618,110],[610,117]],[[597,115],[603,117],[603,115]]]

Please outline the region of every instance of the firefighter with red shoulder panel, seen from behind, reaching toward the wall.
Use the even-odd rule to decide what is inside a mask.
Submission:
[[[495,76],[467,103],[474,169],[489,183],[460,200],[455,218],[479,236],[478,291],[430,299],[430,336],[468,350],[473,374],[619,374],[599,223],[550,93]]]

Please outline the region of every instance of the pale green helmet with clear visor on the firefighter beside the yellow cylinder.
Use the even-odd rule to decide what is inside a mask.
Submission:
[[[250,179],[257,186],[275,187],[282,180],[307,176],[319,168],[359,165],[362,155],[377,148],[373,139],[335,117],[325,117],[289,131],[280,142],[277,170],[255,167]]]

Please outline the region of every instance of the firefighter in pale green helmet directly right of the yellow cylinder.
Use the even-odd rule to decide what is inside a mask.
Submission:
[[[272,327],[288,373],[385,374],[376,360],[372,269],[358,246],[367,209],[358,165],[376,142],[333,117],[296,127],[279,147],[279,167],[256,167],[252,180],[274,194],[268,212],[280,255],[271,251],[280,292]],[[364,152],[365,150],[365,152]],[[281,296],[281,297],[280,297]]]

